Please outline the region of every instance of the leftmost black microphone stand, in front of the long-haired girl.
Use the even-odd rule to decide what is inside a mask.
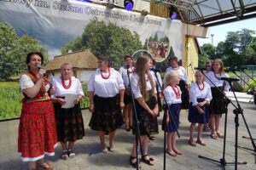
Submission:
[[[135,100],[134,100],[134,95],[132,93],[132,89],[131,89],[131,80],[130,80],[130,72],[129,72],[129,68],[127,69],[127,76],[128,76],[128,81],[129,81],[129,87],[130,87],[130,91],[131,91],[131,100],[132,100],[132,105],[133,105],[133,120],[134,120],[134,125],[135,125],[135,141],[136,141],[136,159],[137,159],[137,165],[136,168],[137,170],[139,169],[138,164],[139,164],[139,158],[138,158],[138,147],[137,144],[138,142],[140,143],[140,149],[141,149],[141,154],[142,156],[144,156],[144,151],[143,151],[143,144],[142,144],[142,139],[141,139],[141,134],[140,134],[140,127],[139,127],[139,121],[137,119],[137,110],[136,110],[136,106],[135,106]]]

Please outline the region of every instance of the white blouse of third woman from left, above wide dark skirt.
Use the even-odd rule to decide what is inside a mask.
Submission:
[[[103,77],[108,77],[108,73],[102,73]],[[119,90],[125,89],[124,81],[119,71],[110,69],[110,77],[102,78],[101,70],[97,69],[91,76],[88,82],[88,92],[94,92],[102,98],[112,98],[119,94]]]

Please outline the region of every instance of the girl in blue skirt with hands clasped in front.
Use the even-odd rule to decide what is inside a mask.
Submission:
[[[206,145],[201,139],[202,126],[209,122],[209,113],[207,104],[210,104],[212,99],[211,88],[204,82],[204,76],[201,71],[195,72],[195,80],[191,84],[189,90],[190,105],[189,105],[189,122],[190,125],[190,139],[189,144],[195,146],[194,130],[195,124],[198,123],[198,136],[196,142],[201,145]]]

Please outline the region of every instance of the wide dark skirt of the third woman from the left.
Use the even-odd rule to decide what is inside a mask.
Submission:
[[[119,95],[113,98],[102,98],[94,95],[93,100],[95,109],[89,123],[92,130],[103,131],[108,135],[125,123],[119,108]]]

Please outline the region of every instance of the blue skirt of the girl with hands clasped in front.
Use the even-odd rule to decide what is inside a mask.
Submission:
[[[197,99],[197,102],[203,102],[205,99]],[[192,123],[203,123],[206,124],[209,122],[209,111],[208,111],[208,106],[203,105],[201,106],[201,109],[205,112],[201,114],[195,106],[190,103],[189,105],[189,122]]]

